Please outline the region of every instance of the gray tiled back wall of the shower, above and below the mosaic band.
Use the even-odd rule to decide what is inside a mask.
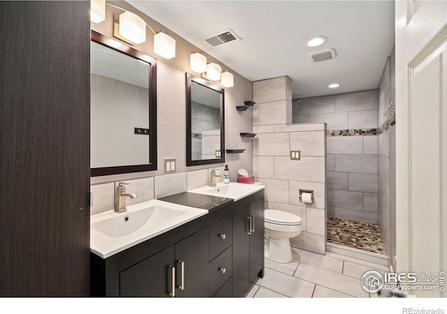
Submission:
[[[378,91],[293,101],[293,123],[318,121],[328,130],[377,128]],[[307,118],[308,117],[308,118]],[[378,137],[327,137],[328,217],[377,223]]]

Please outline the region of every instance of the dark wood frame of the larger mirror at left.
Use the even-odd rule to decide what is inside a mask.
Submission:
[[[97,31],[91,31],[91,40],[95,43],[109,47],[112,50],[127,54],[135,59],[140,59],[151,65],[149,73],[149,160],[145,165],[122,165],[115,167],[91,168],[91,177],[105,176],[110,174],[124,174],[131,172],[152,171],[157,169],[157,140],[156,140],[156,59],[135,50],[117,40],[104,36]]]

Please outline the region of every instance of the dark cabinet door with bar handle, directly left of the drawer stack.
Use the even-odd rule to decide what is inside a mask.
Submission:
[[[208,239],[205,228],[175,244],[175,297],[208,297]]]

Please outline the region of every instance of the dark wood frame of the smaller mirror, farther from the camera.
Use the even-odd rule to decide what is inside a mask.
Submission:
[[[191,82],[196,82],[209,89],[214,89],[221,94],[221,111],[220,111],[220,123],[221,123],[221,158],[192,160],[191,144]],[[210,165],[212,163],[225,163],[225,89],[212,84],[202,77],[197,77],[192,74],[186,73],[186,166],[193,165]]]

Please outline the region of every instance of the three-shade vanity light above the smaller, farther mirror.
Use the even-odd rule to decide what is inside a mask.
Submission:
[[[223,87],[233,87],[233,74],[226,71],[222,73],[222,68],[217,63],[207,61],[207,58],[200,52],[193,52],[190,56],[191,70],[197,73],[205,73],[212,81],[221,81]]]

